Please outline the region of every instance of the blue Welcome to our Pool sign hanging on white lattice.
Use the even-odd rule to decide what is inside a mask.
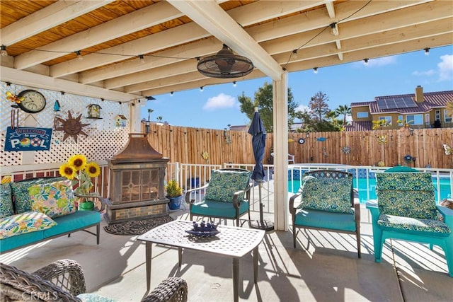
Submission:
[[[45,151],[50,149],[52,128],[16,127],[6,129],[5,151]]]

